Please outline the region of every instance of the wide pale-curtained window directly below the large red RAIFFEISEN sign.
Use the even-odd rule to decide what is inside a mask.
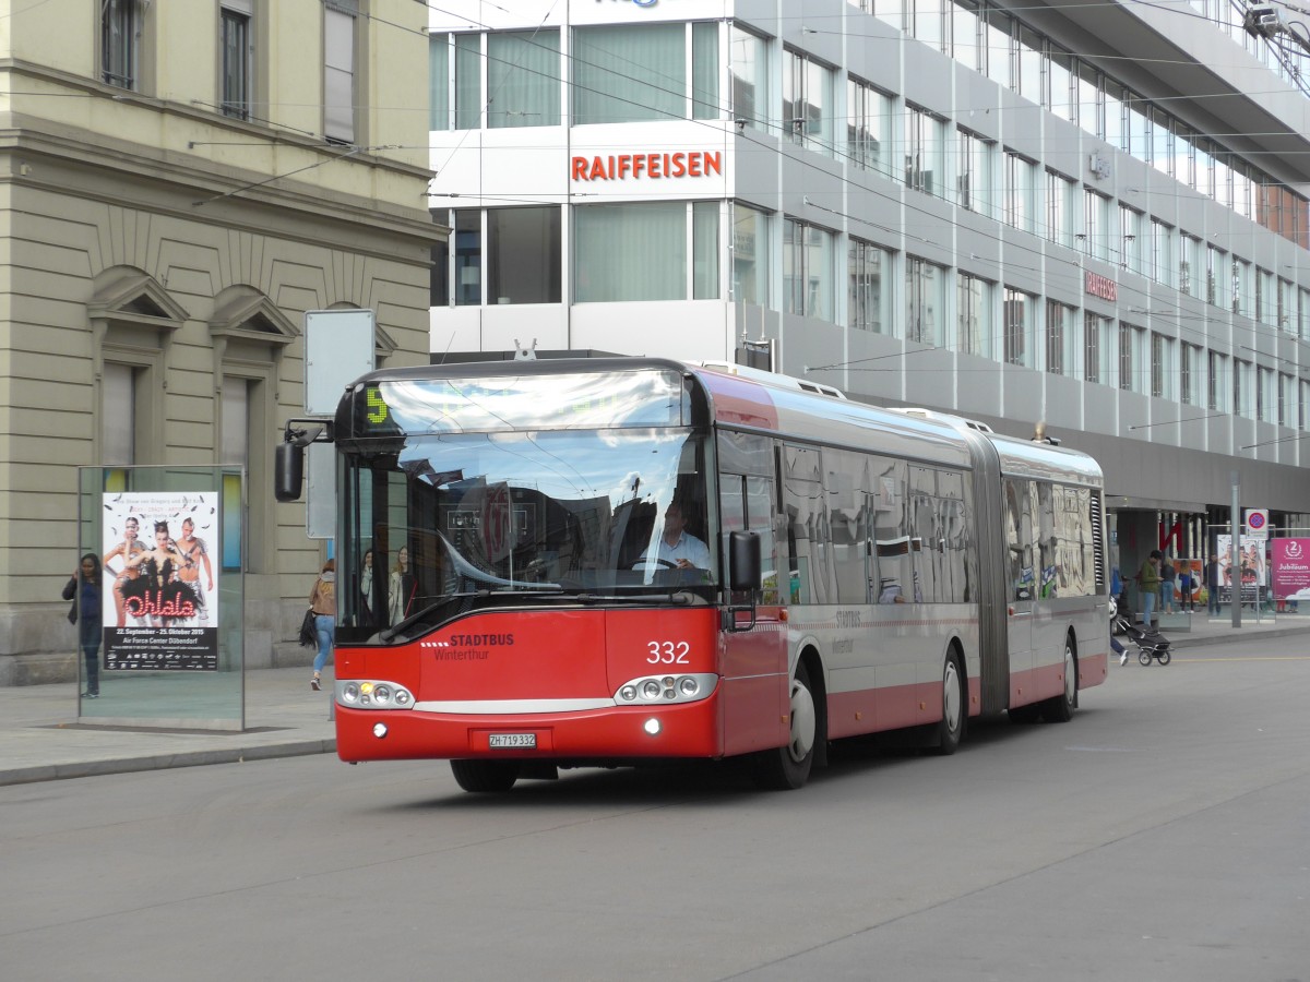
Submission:
[[[718,203],[698,204],[643,202],[576,208],[574,300],[718,297]],[[633,242],[643,247],[633,249]]]

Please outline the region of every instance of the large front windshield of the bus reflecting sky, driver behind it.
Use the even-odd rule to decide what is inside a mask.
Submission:
[[[706,441],[693,431],[520,429],[367,444],[342,453],[346,630],[440,623],[478,597],[549,602],[676,588],[710,598],[715,589]]]

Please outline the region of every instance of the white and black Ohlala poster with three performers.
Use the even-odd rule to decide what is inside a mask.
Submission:
[[[219,669],[216,491],[109,492],[105,669]]]

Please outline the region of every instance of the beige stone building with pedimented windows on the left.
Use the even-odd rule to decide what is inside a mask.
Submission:
[[[428,350],[426,8],[14,3],[0,16],[0,685],[76,677],[79,469],[233,466],[246,664],[293,639],[326,541],[272,498],[307,310]],[[292,642],[292,648],[295,647]]]

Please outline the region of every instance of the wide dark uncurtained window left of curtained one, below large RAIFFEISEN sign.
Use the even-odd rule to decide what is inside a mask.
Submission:
[[[487,302],[558,304],[559,206],[487,211]]]

